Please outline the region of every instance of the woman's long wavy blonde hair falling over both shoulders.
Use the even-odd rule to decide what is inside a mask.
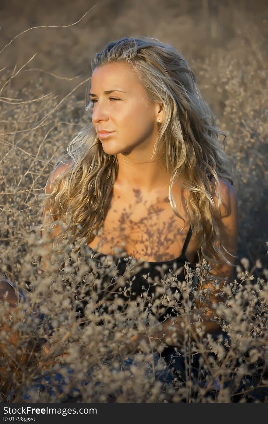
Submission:
[[[216,252],[217,256],[230,264],[224,255],[227,250],[221,243],[218,225],[221,218],[218,177],[233,184],[229,175],[233,174],[232,165],[218,142],[218,136],[224,133],[216,128],[213,114],[202,100],[196,76],[188,62],[171,45],[149,37],[121,38],[109,42],[100,53],[95,54],[92,72],[96,67],[111,62],[129,63],[151,101],[163,103],[165,115],[152,157],[156,155],[159,164],[170,175],[169,202],[180,218],[171,194],[178,176],[182,187],[188,190],[185,204],[193,234],[199,243],[199,261],[203,257],[209,262],[218,263]],[[118,162],[116,155],[109,155],[102,149],[92,124],[93,104],[88,92],[87,87],[86,111],[91,114],[91,122],[79,131],[69,143],[67,153],[57,160],[54,170],[62,163],[68,163],[69,167],[58,175],[50,192],[39,195],[39,200],[46,208],[49,207],[53,219],[47,225],[53,227],[59,221],[64,222],[69,234],[72,234],[71,242],[83,237],[90,244],[107,215]],[[159,152],[164,154],[160,155]],[[215,188],[218,185],[218,207],[211,195],[211,174],[216,179]],[[54,242],[63,237],[64,232],[61,231]]]

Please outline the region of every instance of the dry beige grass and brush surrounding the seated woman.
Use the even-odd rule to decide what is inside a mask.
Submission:
[[[254,43],[252,31],[251,43]],[[47,93],[41,77],[29,79],[18,92],[12,81],[19,78],[24,68],[1,70],[0,276],[23,287],[28,297],[26,303],[18,302],[11,316],[6,313],[8,305],[5,302],[0,305],[0,323],[5,328],[1,332],[2,402],[21,402],[25,389],[45,371],[64,374],[70,369],[75,379],[64,387],[63,393],[54,395],[33,388],[33,402],[62,401],[72,388],[81,389],[82,402],[111,402],[111,393],[115,402],[267,401],[268,269],[262,265],[267,252],[264,246],[257,245],[256,226],[252,225],[259,218],[265,226],[267,216],[268,171],[264,160],[268,149],[267,81],[264,54],[258,45],[251,46],[252,51],[253,59],[249,55],[243,61],[239,55],[223,57],[217,64],[213,57],[205,62],[193,61],[194,71],[202,79],[201,89],[203,85],[204,89],[208,86],[211,91],[216,90],[224,105],[218,125],[226,131],[229,129],[225,148],[235,164],[235,188],[240,204],[237,277],[232,284],[222,287],[225,301],[214,316],[227,333],[228,344],[221,336],[213,340],[204,334],[190,341],[187,322],[191,316],[199,321],[200,311],[189,307],[189,294],[209,297],[209,293],[201,295],[196,291],[189,269],[186,282],[177,282],[175,276],[163,278],[163,299],[158,305],[150,306],[148,299],[139,304],[126,300],[122,315],[116,309],[120,300],[119,305],[116,301],[109,304],[107,298],[108,314],[103,315],[103,325],[98,325],[100,318],[95,310],[102,278],[108,275],[120,289],[135,273],[137,264],[132,261],[128,265],[130,272],[117,279],[116,264],[106,263],[97,268],[87,246],[70,245],[67,238],[59,251],[50,255],[48,270],[42,271],[40,257],[44,246],[41,234],[34,229],[42,216],[37,195],[44,190],[57,157],[66,151],[69,140],[87,122],[84,102],[77,100],[76,90],[88,78],[59,98]],[[28,64],[33,59],[31,56]],[[55,76],[55,83],[56,79]],[[256,260],[252,252],[257,249],[260,257]],[[206,262],[199,264],[196,276],[201,283],[208,278],[213,281],[209,271]],[[79,288],[81,281],[84,284]],[[177,285],[178,298],[169,296],[170,284]],[[219,282],[214,279],[214,284],[217,286]],[[77,308],[85,296],[88,296],[85,315],[77,317]],[[137,329],[147,332],[156,329],[157,313],[166,302],[174,302],[174,307],[185,316],[185,339],[177,351],[182,355],[185,375],[176,374],[169,367],[174,376],[172,383],[163,384],[156,379],[153,341],[151,346],[141,346],[145,357],[135,355],[140,363],[119,371],[120,361],[127,357],[125,347],[131,336]],[[41,324],[39,314],[44,314]],[[61,358],[64,353],[68,354]],[[194,371],[197,354],[199,369]],[[63,367],[62,363],[67,366]],[[151,363],[150,373],[145,372],[147,363]],[[84,386],[86,372],[92,368],[90,381]],[[114,369],[117,371],[113,372]],[[51,385],[55,386],[53,382]]]

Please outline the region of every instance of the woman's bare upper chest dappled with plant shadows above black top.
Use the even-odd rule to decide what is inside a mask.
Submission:
[[[177,210],[184,221],[175,215],[169,203],[169,189],[164,187],[154,195],[141,190],[117,190],[114,188],[102,233],[89,247],[105,255],[132,256],[146,262],[164,262],[182,254],[182,246],[188,233],[185,195],[177,187],[172,191]],[[120,250],[122,249],[122,250]],[[193,235],[185,255],[189,262],[196,257],[196,240]]]

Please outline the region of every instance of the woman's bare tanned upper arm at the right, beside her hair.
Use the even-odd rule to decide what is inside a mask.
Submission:
[[[220,207],[220,213],[221,213],[221,219],[219,222],[219,230],[221,233],[221,241],[224,246],[224,248],[227,249],[227,251],[232,254],[236,255],[237,253],[237,242],[238,242],[238,200],[237,195],[235,192],[234,187],[226,180],[219,178],[220,186],[221,186],[221,207]],[[215,179],[213,177],[211,181],[214,187]],[[218,206],[217,196],[216,193],[213,192],[212,194],[213,200],[215,201],[216,206]],[[223,259],[219,257],[218,254],[216,254],[216,259],[219,260],[222,263],[214,265],[211,263],[211,271],[210,274],[215,276],[216,278],[225,278],[227,277],[229,280],[232,279],[233,270],[234,270],[234,264],[235,264],[235,257],[232,257],[229,253],[224,251],[225,257],[231,262],[231,265],[228,265],[226,262],[223,262]],[[218,292],[218,290],[213,287],[213,285],[210,282],[206,282],[203,285],[203,290],[206,288],[210,288],[210,301],[218,303],[221,298],[218,296],[215,296],[215,294]],[[199,304],[199,302],[198,302]],[[202,305],[207,306],[207,305]],[[209,311],[211,314],[212,311]],[[208,314],[209,315],[209,314]]]

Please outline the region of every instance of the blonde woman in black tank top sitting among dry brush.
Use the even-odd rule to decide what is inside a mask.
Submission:
[[[194,266],[204,258],[214,276],[231,279],[237,196],[220,131],[185,58],[155,39],[122,38],[95,54],[92,71],[86,105],[92,123],[69,143],[40,195],[49,201],[43,218],[54,226],[51,245],[64,237],[57,220],[68,222],[72,240],[86,238],[100,256],[119,257],[123,244],[122,257],[149,263],[136,275],[134,297],[143,291],[144,269],[152,279],[160,275],[157,265]],[[44,268],[49,254],[48,247]],[[184,278],[182,270],[177,279]],[[202,328],[216,333],[206,306],[198,303]],[[183,317],[163,315],[152,338],[133,336],[130,352],[141,340],[155,350],[161,342],[180,346]],[[191,327],[196,337],[194,321]]]

